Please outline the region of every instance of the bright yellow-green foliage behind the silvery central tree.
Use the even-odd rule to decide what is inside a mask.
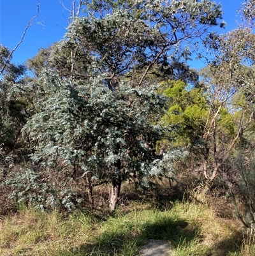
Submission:
[[[207,120],[207,98],[203,90],[168,80],[161,82],[159,92],[170,98],[168,112],[162,120],[167,126],[175,127],[173,146],[191,146],[203,133]]]

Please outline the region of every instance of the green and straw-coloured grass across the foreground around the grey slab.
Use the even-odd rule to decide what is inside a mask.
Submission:
[[[177,256],[247,256],[237,220],[219,218],[202,204],[177,202],[168,208],[135,204],[112,216],[22,209],[0,222],[0,255],[135,256],[149,239],[161,239]]]

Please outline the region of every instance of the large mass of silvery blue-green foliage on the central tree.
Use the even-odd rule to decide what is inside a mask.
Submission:
[[[35,107],[40,112],[23,128],[34,151],[31,160],[45,171],[62,172],[64,180],[82,180],[89,173],[94,181],[171,178],[170,156],[155,150],[157,140],[170,139],[170,130],[153,122],[163,114],[166,98],[156,87],[133,88],[126,82],[111,91],[104,79],[81,86],[45,74]]]

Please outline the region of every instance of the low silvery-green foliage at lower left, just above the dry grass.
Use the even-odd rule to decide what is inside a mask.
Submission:
[[[39,169],[39,170],[38,170]],[[60,185],[55,179],[62,179]],[[64,179],[63,175],[45,172],[40,167],[16,170],[6,175],[5,185],[11,188],[10,200],[17,205],[26,205],[41,211],[64,209],[73,211],[83,201],[83,194],[75,189],[75,184]],[[68,186],[69,185],[69,186]],[[69,188],[68,188],[69,187]]]

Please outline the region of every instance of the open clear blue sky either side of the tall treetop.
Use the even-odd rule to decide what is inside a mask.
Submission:
[[[48,47],[54,41],[61,40],[68,26],[68,11],[61,5],[69,8],[71,0],[41,0],[40,14],[34,20],[34,25],[29,27],[25,34],[24,42],[13,54],[14,63],[23,63],[33,57],[41,47]],[[239,15],[237,9],[243,3],[242,0],[216,0],[222,4],[224,20],[228,26],[220,33],[226,33],[237,27]],[[24,33],[29,19],[36,15],[38,0],[0,0],[0,43],[10,50],[17,45]],[[41,25],[42,24],[42,25]]]

